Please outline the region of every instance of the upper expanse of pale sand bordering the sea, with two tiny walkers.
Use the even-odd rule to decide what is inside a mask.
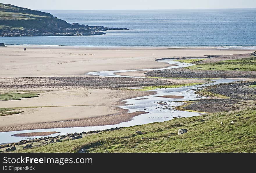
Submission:
[[[23,46],[24,47],[24,46]],[[0,77],[77,76],[88,72],[152,69],[169,66],[159,58],[203,57],[251,53],[251,50],[99,48],[90,47],[1,47]],[[66,49],[64,49],[66,48]]]

